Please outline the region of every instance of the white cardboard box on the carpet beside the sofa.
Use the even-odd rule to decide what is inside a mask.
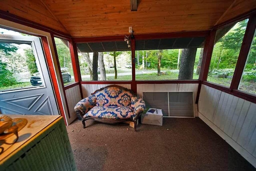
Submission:
[[[163,125],[162,109],[149,108],[146,113],[141,114],[141,123],[149,125]]]

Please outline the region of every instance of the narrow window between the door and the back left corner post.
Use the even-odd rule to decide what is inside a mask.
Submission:
[[[75,82],[68,41],[60,38],[54,38],[54,41],[60,62],[62,81],[64,85],[68,85]]]

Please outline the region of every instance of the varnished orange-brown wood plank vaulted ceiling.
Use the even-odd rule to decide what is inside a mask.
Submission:
[[[0,10],[72,37],[210,30],[256,8],[256,0],[4,0]]]

